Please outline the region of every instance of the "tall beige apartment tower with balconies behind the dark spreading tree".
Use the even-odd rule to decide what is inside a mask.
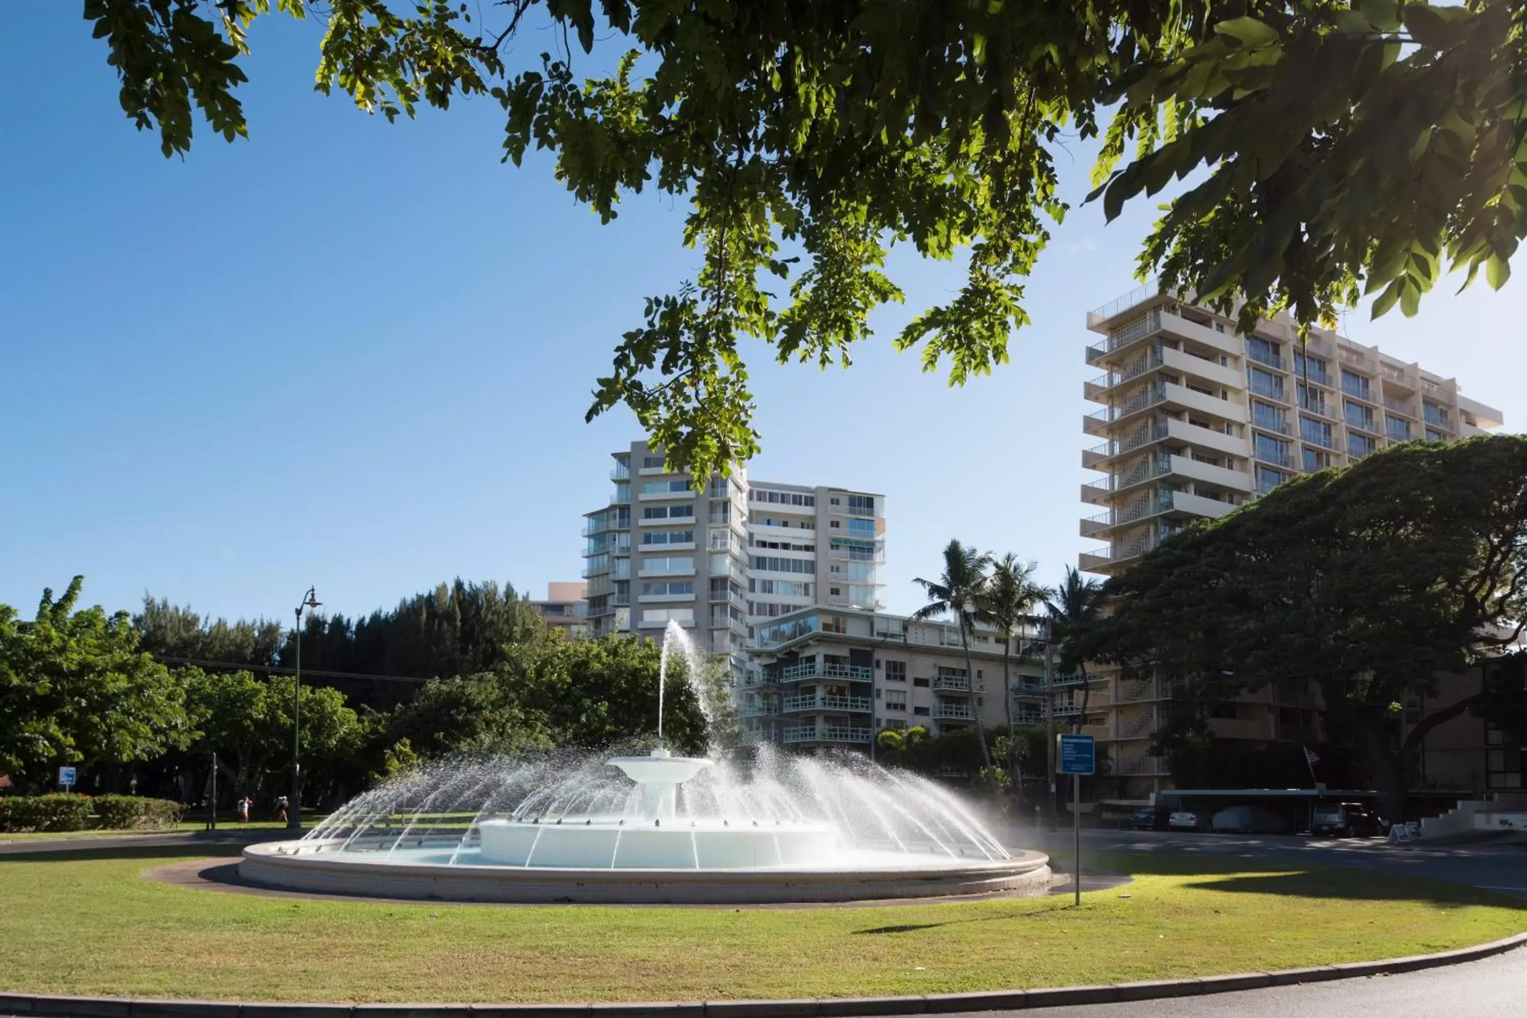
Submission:
[[[1376,346],[1312,330],[1298,339],[1286,317],[1240,336],[1208,308],[1141,287],[1087,314],[1102,340],[1087,363],[1104,374],[1084,395],[1102,409],[1083,417],[1101,441],[1081,455],[1099,481],[1081,485],[1096,514],[1083,537],[1106,542],[1080,568],[1110,575],[1128,568],[1196,519],[1219,517],[1283,481],[1412,438],[1446,441],[1501,426],[1501,412],[1458,392],[1420,365]],[[1083,731],[1110,757],[1110,774],[1144,798],[1167,780],[1148,754],[1171,687],[1161,678],[1092,675]],[[1315,739],[1307,688],[1264,688],[1222,705],[1215,737],[1257,743]]]

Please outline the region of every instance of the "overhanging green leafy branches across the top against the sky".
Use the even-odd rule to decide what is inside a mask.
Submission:
[[[1332,322],[1359,292],[1412,313],[1446,267],[1501,285],[1527,229],[1527,0],[86,0],[121,105],[191,147],[194,107],[249,131],[247,29],[325,18],[318,90],[394,119],[502,105],[504,153],[556,156],[611,220],[625,195],[689,200],[695,279],[646,301],[589,417],[635,412],[696,476],[757,449],[742,339],[847,366],[901,288],[893,244],[967,258],[950,301],[895,337],[953,385],[1008,359],[1029,275],[1067,205],[1055,153],[1101,137],[1107,215],[1197,172],[1141,272],[1248,327]],[[550,29],[541,34],[533,29]],[[516,40],[550,38],[539,60]],[[516,63],[518,60],[518,63]],[[596,70],[580,78],[585,61]],[[1125,153],[1133,142],[1133,157]],[[1127,162],[1119,168],[1121,162]],[[776,292],[776,287],[782,292]]]

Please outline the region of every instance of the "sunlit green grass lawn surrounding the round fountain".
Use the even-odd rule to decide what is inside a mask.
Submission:
[[[231,849],[228,852],[232,852]],[[0,856],[0,989],[147,997],[557,1001],[933,994],[1441,951],[1527,929],[1451,884],[1110,856],[1133,884],[883,908],[389,905],[140,879],[206,852]]]

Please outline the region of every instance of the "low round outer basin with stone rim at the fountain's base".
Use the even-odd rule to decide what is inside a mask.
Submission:
[[[337,850],[334,842],[249,846],[243,881],[281,890],[452,902],[582,904],[811,904],[944,897],[997,891],[1043,893],[1049,858],[1005,859],[838,850],[829,864],[802,867],[611,868],[524,867],[481,859],[476,850]],[[452,864],[454,862],[454,864]]]

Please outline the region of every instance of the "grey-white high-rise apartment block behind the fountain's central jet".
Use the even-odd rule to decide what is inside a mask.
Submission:
[[[594,635],[660,636],[676,621],[741,673],[760,621],[812,604],[880,606],[884,496],[750,481],[741,469],[695,491],[646,443],[612,456],[609,502],[583,516]]]

